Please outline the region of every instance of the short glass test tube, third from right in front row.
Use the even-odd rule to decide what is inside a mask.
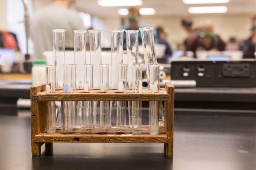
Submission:
[[[118,64],[118,92],[127,89],[127,64]],[[117,101],[116,130],[125,131],[126,101]]]

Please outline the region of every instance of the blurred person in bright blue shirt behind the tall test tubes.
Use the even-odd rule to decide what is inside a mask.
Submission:
[[[121,26],[120,27],[121,29],[139,30],[139,28],[150,26],[148,24],[144,24],[140,22],[140,10],[138,8],[131,7],[128,9],[128,11],[129,13],[127,17],[128,17],[129,24]],[[156,29],[153,29],[153,34],[154,34],[154,38],[156,38],[157,37]],[[138,38],[139,38],[139,45],[142,45],[140,32],[138,33]],[[126,50],[126,33],[125,32],[124,32],[124,50]]]

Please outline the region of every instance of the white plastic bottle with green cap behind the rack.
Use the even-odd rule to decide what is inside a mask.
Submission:
[[[34,60],[32,67],[32,85],[45,83],[45,60]]]

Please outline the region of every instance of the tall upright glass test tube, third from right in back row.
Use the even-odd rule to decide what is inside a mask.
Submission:
[[[124,29],[111,29],[110,89],[118,89],[118,64],[123,63]],[[126,63],[126,62],[124,62]],[[116,128],[117,101],[110,101],[110,128]]]

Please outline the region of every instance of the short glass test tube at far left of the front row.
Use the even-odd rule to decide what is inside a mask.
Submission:
[[[45,66],[46,93],[55,92],[55,65]],[[46,102],[46,131],[48,134],[56,132],[55,101]]]

